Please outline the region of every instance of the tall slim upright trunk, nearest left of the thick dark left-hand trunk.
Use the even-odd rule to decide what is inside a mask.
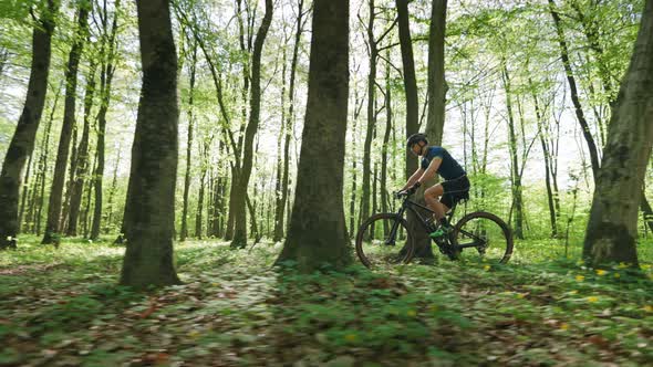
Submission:
[[[115,7],[120,9],[121,0],[116,0]],[[102,223],[102,186],[104,180],[104,141],[106,133],[106,113],[108,111],[108,104],[111,102],[111,85],[113,82],[113,74],[115,72],[115,38],[117,33],[117,18],[118,12],[116,11],[113,15],[113,23],[111,33],[106,34],[106,27],[108,23],[108,14],[106,7],[103,9],[103,46],[104,60],[102,61],[102,72],[100,75],[100,111],[97,112],[97,148],[96,159],[97,166],[93,172],[95,182],[95,207],[93,207],[93,224],[91,226],[91,240],[95,241],[100,238],[100,228]],[[120,158],[118,158],[120,159]],[[108,219],[107,222],[111,220]]]

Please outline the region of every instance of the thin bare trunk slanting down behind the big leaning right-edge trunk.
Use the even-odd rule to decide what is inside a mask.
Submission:
[[[576,116],[578,118],[578,123],[580,124],[583,137],[585,139],[585,143],[588,144],[588,150],[590,151],[590,161],[592,164],[592,174],[595,181],[597,175],[599,172],[599,153],[597,150],[597,144],[594,143],[594,138],[592,137],[590,127],[588,125],[588,122],[585,120],[582,106],[580,104],[580,99],[578,97],[578,87],[576,86],[576,78],[573,77],[571,62],[569,61],[569,50],[567,48],[567,41],[564,39],[564,32],[562,31],[560,15],[556,10],[556,2],[553,0],[549,0],[549,10],[551,12],[551,17],[553,18],[553,22],[556,23],[556,31],[558,32],[558,42],[560,43],[560,56],[562,59],[562,64],[564,65],[564,72],[567,73],[569,90],[571,91],[571,102],[573,103]]]

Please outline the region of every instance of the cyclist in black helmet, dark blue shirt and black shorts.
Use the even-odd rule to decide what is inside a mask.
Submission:
[[[424,200],[428,209],[435,212],[434,221],[438,220],[442,226],[428,235],[436,239],[448,234],[453,228],[445,214],[462,200],[469,199],[467,174],[445,148],[429,147],[428,139],[424,134],[411,135],[406,145],[415,156],[422,157],[422,164],[401,191],[413,193],[425,181],[438,174],[444,181],[426,189]]]

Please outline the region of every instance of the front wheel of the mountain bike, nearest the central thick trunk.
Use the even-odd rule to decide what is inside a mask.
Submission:
[[[374,214],[356,233],[356,254],[367,268],[407,263],[415,254],[413,238],[404,218],[394,213]]]

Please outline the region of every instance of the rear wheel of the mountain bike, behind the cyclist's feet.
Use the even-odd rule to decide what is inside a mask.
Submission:
[[[506,263],[512,255],[512,233],[499,217],[477,211],[463,217],[454,228],[452,242],[466,247],[456,254],[458,260]]]

